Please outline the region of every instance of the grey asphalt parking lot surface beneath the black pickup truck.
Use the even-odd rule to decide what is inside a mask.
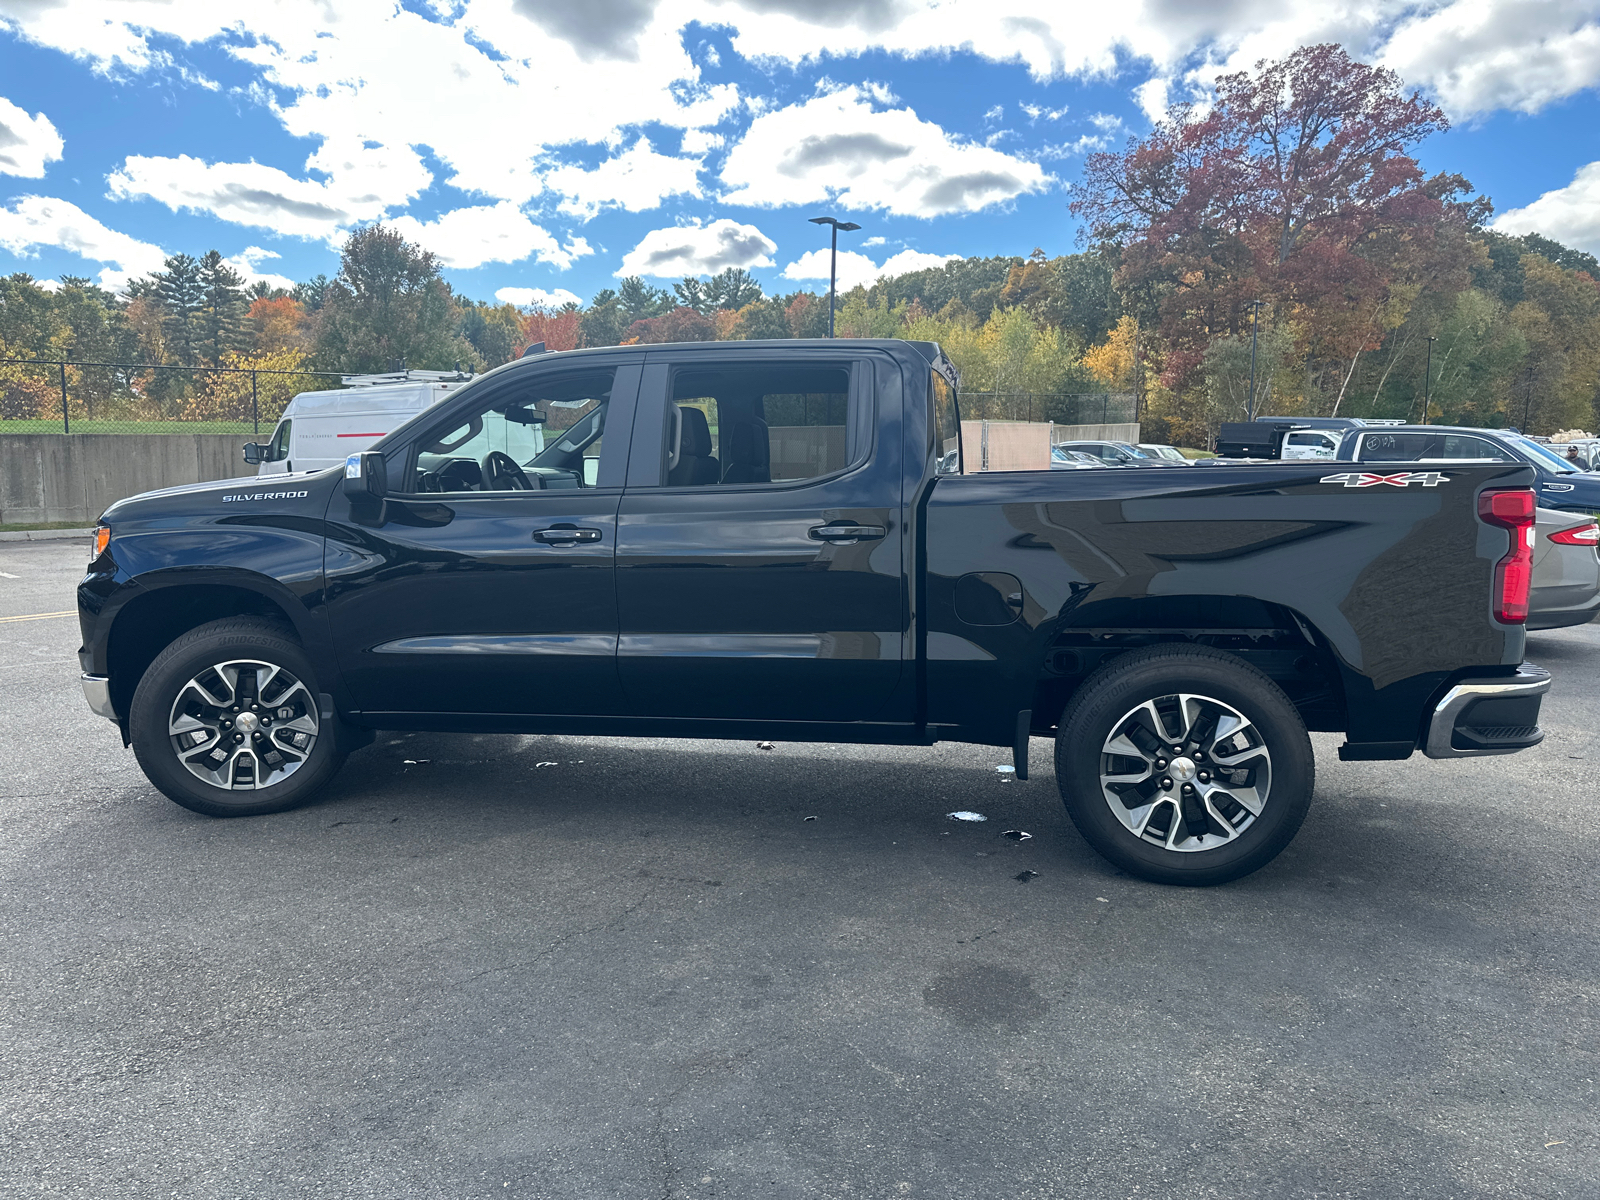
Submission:
[[[83,560],[0,544],[0,618]],[[1530,637],[1534,750],[1315,736],[1218,890],[1094,856],[1043,741],[390,734],[213,821],[75,648],[0,622],[3,1195],[1600,1195],[1600,629]]]

